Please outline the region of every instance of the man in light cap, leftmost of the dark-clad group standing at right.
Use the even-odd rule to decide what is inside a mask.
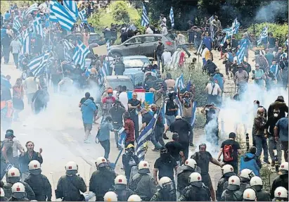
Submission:
[[[258,108],[257,117],[254,119],[253,125],[253,135],[257,147],[256,156],[261,156],[262,150],[264,150],[264,162],[270,164],[268,160],[268,145],[266,137],[264,136],[265,125],[266,118],[264,118],[264,108]]]

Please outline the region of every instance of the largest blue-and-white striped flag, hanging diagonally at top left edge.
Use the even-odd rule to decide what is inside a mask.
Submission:
[[[57,1],[50,2],[50,12],[56,16],[58,23],[65,30],[71,30],[76,23],[71,13]]]

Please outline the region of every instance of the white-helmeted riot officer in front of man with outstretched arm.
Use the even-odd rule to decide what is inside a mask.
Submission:
[[[200,173],[193,172],[188,182],[190,185],[184,189],[179,201],[211,201],[210,190],[203,184]]]

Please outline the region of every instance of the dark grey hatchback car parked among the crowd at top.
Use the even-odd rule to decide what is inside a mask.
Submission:
[[[171,38],[162,34],[140,34],[120,45],[110,46],[110,54],[114,58],[122,56],[138,56],[143,55],[147,57],[154,57],[155,47],[158,45],[158,40],[162,40],[165,49],[174,53],[176,51],[176,43]]]

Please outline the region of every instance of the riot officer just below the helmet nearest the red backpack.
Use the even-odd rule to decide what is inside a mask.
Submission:
[[[220,201],[242,201],[243,191],[240,191],[240,178],[236,175],[229,177],[228,187],[221,194]]]

